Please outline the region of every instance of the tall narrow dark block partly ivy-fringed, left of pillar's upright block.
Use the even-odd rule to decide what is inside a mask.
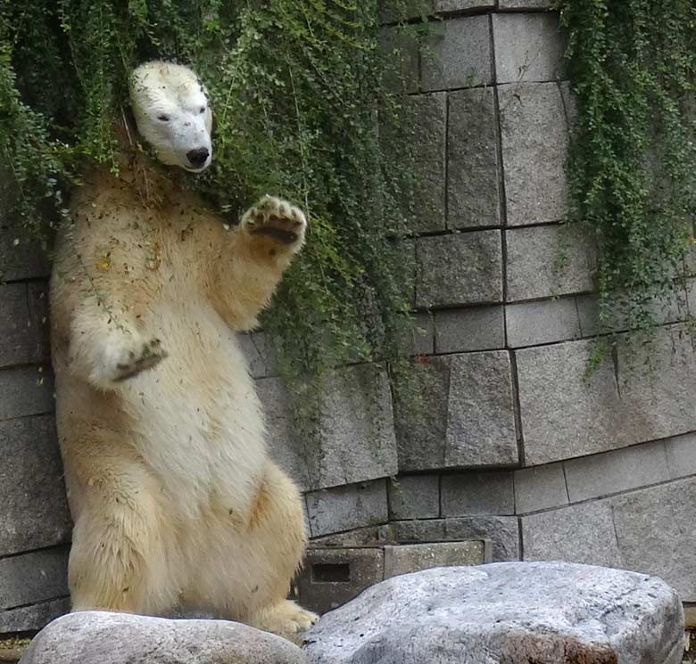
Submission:
[[[447,116],[446,93],[418,94],[403,102],[402,131],[417,155],[413,174],[413,204],[406,211],[414,233],[440,231],[444,218],[444,160]]]

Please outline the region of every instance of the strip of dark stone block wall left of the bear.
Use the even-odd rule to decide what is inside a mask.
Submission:
[[[0,191],[0,633],[68,610],[70,514],[55,436],[50,265],[2,217]]]

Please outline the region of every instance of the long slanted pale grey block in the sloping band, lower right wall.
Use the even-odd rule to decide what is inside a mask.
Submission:
[[[669,479],[665,444],[661,440],[571,459],[564,466],[571,503]]]

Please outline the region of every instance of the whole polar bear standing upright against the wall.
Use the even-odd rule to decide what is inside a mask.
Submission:
[[[187,68],[135,70],[120,170],[72,201],[51,280],[72,607],[196,611],[279,634],[306,545],[301,496],[269,459],[234,331],[250,330],[306,221],[266,197],[229,227],[155,166],[211,162],[211,109]],[[176,170],[176,169],[174,169]]]

